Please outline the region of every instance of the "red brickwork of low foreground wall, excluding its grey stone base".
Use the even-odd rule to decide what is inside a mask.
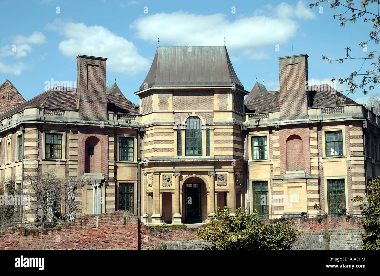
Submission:
[[[124,219],[126,217],[126,219]],[[98,218],[98,225],[97,225]],[[125,225],[124,225],[125,221]],[[264,220],[272,223],[272,220]],[[292,219],[293,225],[306,232],[321,229],[362,230],[359,218],[346,221],[345,217],[328,217],[318,223],[317,218]],[[196,240],[197,228],[150,229],[138,227],[137,217],[127,211],[101,215],[83,215],[70,225],[53,229],[24,230],[9,228],[0,233],[2,249],[141,249],[160,246],[166,241]],[[140,237],[140,238],[139,238]]]

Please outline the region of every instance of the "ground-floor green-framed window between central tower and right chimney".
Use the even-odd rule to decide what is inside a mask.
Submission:
[[[253,209],[258,211],[260,219],[269,219],[268,181],[253,182]]]

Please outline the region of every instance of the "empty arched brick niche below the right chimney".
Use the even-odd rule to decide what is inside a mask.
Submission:
[[[286,140],[287,171],[304,171],[304,145],[302,138],[292,134]]]

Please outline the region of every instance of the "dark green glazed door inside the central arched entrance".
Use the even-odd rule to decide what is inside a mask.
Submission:
[[[201,183],[185,183],[185,223],[201,223]]]

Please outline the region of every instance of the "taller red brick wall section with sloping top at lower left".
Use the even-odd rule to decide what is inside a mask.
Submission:
[[[124,225],[126,217],[126,225]],[[83,215],[53,229],[12,228],[0,233],[2,249],[138,249],[137,217],[126,211]]]

